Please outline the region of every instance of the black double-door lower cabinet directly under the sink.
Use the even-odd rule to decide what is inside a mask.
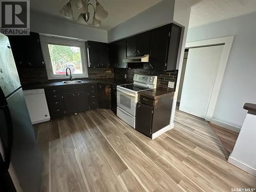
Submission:
[[[89,110],[88,92],[74,92],[63,94],[66,114],[74,114]]]

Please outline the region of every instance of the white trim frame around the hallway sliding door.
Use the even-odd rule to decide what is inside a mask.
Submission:
[[[210,101],[209,101],[206,116],[205,116],[206,121],[211,121],[212,115],[214,115],[214,110],[215,110],[215,106],[216,106],[219,92],[221,89],[221,84],[223,81],[225,69],[227,66],[227,61],[228,61],[230,50],[231,50],[232,43],[233,43],[233,38],[234,38],[234,36],[227,36],[227,37],[186,42],[185,49],[215,46],[215,45],[220,45],[220,44],[224,45],[222,54],[221,54],[220,65],[219,65],[215,83],[214,83],[214,88],[212,89]]]

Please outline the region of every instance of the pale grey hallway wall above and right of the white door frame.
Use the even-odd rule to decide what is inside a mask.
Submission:
[[[256,12],[188,30],[187,42],[234,35],[212,119],[241,128],[245,102],[256,103]]]

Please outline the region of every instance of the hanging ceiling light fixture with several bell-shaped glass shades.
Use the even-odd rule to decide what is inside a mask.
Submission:
[[[72,0],[73,1],[73,0]],[[108,17],[108,11],[106,11],[100,3],[96,1],[96,5],[93,6],[91,3],[89,3],[90,0],[77,0],[76,7],[78,10],[80,10],[80,14],[77,18],[77,23],[88,25],[88,21],[90,18],[90,13],[88,10],[88,6],[92,6],[94,13],[92,18],[92,25],[95,27],[99,27],[101,24],[101,20]],[[62,7],[62,9],[59,11],[62,16],[65,16],[68,19],[74,19],[73,16],[73,10],[71,7],[71,0]]]

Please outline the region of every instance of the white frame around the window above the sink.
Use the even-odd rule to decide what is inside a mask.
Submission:
[[[72,74],[74,78],[86,78],[88,77],[88,69],[87,69],[87,58],[86,58],[86,44],[84,41],[79,40],[71,40],[64,38],[55,38],[40,35],[40,43],[42,49],[42,55],[46,64],[46,72],[48,79],[66,79],[69,78],[66,74],[54,74],[52,68],[52,62],[50,57],[50,52],[48,48],[48,44],[51,45],[60,45],[60,46],[74,46],[80,48],[81,54],[81,62],[82,62],[82,74]]]

